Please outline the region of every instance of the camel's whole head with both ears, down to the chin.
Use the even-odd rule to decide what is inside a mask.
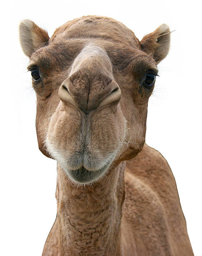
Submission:
[[[105,17],[74,19],[51,38],[31,20],[20,23],[37,97],[38,146],[72,181],[96,181],[141,151],[157,64],[169,41],[165,24],[139,41]]]

